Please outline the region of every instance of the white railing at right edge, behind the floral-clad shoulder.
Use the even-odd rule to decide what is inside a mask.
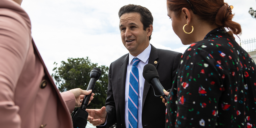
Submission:
[[[242,40],[242,42],[240,41],[240,46],[247,52],[256,51],[256,39]]]

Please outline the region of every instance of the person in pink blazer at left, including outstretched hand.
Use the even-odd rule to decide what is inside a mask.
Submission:
[[[21,2],[0,0],[0,127],[72,128],[70,113],[91,90],[58,91]]]

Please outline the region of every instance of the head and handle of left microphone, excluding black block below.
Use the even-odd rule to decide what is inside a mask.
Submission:
[[[90,72],[90,78],[91,79],[90,79],[90,82],[89,82],[88,87],[86,89],[87,91],[88,90],[93,91],[95,83],[100,78],[100,76],[101,76],[100,68],[93,68],[92,71]],[[90,100],[91,94],[84,96],[84,100],[82,102],[81,108],[84,108],[84,109],[87,108],[87,105],[88,105],[88,102]]]

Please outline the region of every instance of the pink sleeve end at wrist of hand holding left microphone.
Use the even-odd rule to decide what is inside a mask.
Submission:
[[[64,102],[66,102],[69,112],[72,113],[76,105],[76,98],[74,94],[70,91],[66,91],[60,93],[60,95],[63,98]]]

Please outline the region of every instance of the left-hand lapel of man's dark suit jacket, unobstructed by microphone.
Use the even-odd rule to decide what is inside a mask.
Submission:
[[[126,81],[126,72],[127,72],[127,65],[129,61],[129,54],[125,56],[118,67],[118,81],[117,81],[117,93],[118,93],[118,100],[119,100],[119,108],[120,108],[120,114],[122,119],[122,124],[124,124],[124,113],[125,113],[125,81]]]

